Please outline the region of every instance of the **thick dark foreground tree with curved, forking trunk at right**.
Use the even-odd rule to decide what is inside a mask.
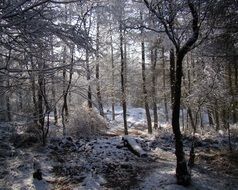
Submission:
[[[182,134],[179,125],[179,115],[181,101],[181,81],[183,75],[183,58],[194,47],[200,30],[199,14],[196,7],[197,4],[190,0],[187,0],[184,2],[184,4],[182,3],[182,6],[188,7],[188,11],[191,15],[190,37],[185,38],[185,34],[183,32],[176,32],[177,30],[175,25],[175,21],[177,19],[176,16],[178,16],[178,10],[180,10],[181,5],[175,1],[167,0],[159,2],[149,2],[144,0],[144,2],[148,9],[162,23],[168,38],[176,49],[175,80],[172,81],[172,127],[175,135],[175,154],[177,157],[176,176],[178,184],[188,185],[191,181],[191,175],[184,156]],[[164,9],[166,9],[166,11]],[[184,29],[184,32],[186,33],[187,29]]]

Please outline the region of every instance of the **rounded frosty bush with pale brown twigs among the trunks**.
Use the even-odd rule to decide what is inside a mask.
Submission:
[[[107,121],[93,109],[83,106],[72,114],[69,119],[69,135],[84,137],[104,133]]]

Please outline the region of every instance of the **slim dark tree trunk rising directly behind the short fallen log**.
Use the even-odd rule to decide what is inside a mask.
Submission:
[[[122,33],[122,21],[120,21],[119,31],[120,31],[120,53],[121,53],[121,92],[122,92],[122,109],[123,109],[123,122],[124,122],[124,133],[128,135],[128,128],[127,128],[127,105],[126,105],[126,84],[125,84],[125,59],[124,59],[124,52],[123,52],[123,33]]]

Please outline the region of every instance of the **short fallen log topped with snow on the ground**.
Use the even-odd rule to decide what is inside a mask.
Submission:
[[[126,146],[132,153],[139,157],[147,157],[147,153],[141,148],[141,146],[136,142],[136,140],[130,136],[122,137],[124,146]]]

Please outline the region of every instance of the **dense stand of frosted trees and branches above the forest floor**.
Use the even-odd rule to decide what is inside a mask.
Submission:
[[[177,182],[187,185],[182,133],[224,131],[234,149],[237,7],[236,0],[2,0],[0,121],[27,126],[45,145],[53,126],[63,136],[106,131],[118,109],[130,135],[128,109],[142,107],[149,134],[171,123]]]

